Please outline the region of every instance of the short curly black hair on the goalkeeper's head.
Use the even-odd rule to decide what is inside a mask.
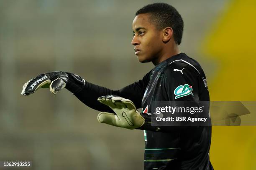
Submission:
[[[136,16],[146,13],[151,14],[150,21],[156,24],[157,29],[171,27],[174,33],[174,40],[180,45],[184,23],[181,15],[172,5],[166,3],[149,4],[139,9],[136,12]]]

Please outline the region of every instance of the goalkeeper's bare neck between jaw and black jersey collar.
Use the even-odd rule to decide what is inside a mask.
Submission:
[[[179,46],[178,45],[174,45],[173,47],[169,47],[166,48],[166,50],[162,51],[162,55],[160,55],[159,57],[157,57],[155,60],[152,61],[152,63],[154,65],[158,65],[160,62],[167,60],[168,58],[179,54]]]

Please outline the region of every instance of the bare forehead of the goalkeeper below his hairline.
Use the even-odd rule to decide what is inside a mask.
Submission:
[[[137,15],[133,20],[133,30],[136,30],[136,28],[146,28],[150,29],[154,27],[152,23],[150,23],[150,14],[139,14]]]

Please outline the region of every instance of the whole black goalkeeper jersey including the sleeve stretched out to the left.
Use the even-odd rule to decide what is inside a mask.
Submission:
[[[179,86],[188,85],[192,93],[179,94]],[[210,101],[205,74],[199,63],[184,53],[174,55],[156,65],[142,80],[120,90],[110,90],[86,82],[75,94],[79,100],[99,111],[113,112],[97,102],[103,95],[128,98],[142,108],[145,118],[153,112],[154,101]],[[90,96],[87,97],[87,96]],[[156,131],[142,126],[145,139],[145,170],[213,170],[209,158],[211,126],[167,126]]]

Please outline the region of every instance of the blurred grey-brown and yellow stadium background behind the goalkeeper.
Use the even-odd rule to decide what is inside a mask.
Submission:
[[[154,66],[137,61],[131,23],[152,2],[0,1],[0,161],[31,160],[30,170],[143,169],[142,131],[98,123],[98,111],[67,90],[20,92],[54,70],[111,89],[141,79]],[[181,13],[180,48],[205,70],[211,100],[256,100],[256,2],[162,2]],[[255,170],[256,127],[213,127],[210,159],[216,170]]]

